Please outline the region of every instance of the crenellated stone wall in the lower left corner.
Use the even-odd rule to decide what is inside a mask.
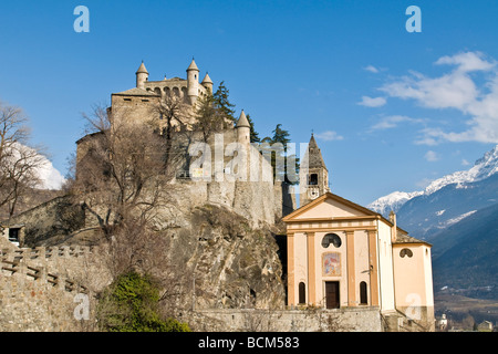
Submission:
[[[3,247],[0,331],[93,330],[94,323],[89,321],[95,308],[93,294],[111,281],[95,259],[100,259],[97,249],[89,247]]]

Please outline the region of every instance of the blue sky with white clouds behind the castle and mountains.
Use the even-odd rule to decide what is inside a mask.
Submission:
[[[76,33],[76,6],[90,32]],[[408,6],[422,10],[409,33]],[[0,100],[62,173],[82,112],[149,80],[225,81],[260,136],[313,131],[332,191],[366,205],[467,169],[498,143],[496,1],[2,1]]]

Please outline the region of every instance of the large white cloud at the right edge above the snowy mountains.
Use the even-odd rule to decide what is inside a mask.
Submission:
[[[397,77],[380,87],[390,97],[412,100],[425,108],[456,110],[468,116],[460,131],[438,127],[421,131],[415,144],[436,145],[440,142],[498,143],[498,65],[480,52],[442,56],[436,65],[453,70],[429,77],[422,73]],[[476,77],[479,75],[478,77]],[[455,125],[454,125],[455,126]]]

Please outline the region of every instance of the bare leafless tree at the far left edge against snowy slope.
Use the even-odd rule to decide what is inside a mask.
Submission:
[[[22,110],[0,102],[0,208],[12,217],[19,199],[40,186],[40,147],[28,146],[30,129]]]

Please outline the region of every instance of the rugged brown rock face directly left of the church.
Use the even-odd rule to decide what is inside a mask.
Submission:
[[[220,206],[193,210],[189,228],[172,232],[170,259],[183,266],[196,309],[279,308],[286,288],[274,228],[252,229]],[[190,281],[188,281],[190,280]],[[187,295],[188,298],[188,295]]]

